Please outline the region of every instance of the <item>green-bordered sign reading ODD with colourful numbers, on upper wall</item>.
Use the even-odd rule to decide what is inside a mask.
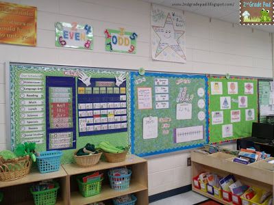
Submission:
[[[105,29],[105,51],[119,53],[136,53],[136,39],[138,35],[134,32]]]

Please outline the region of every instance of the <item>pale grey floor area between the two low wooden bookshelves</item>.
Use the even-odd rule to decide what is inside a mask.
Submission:
[[[152,202],[149,205],[192,205],[203,202],[205,200],[208,200],[208,198],[200,195],[199,193],[195,193],[194,191],[188,191],[186,193],[168,197],[157,202]]]

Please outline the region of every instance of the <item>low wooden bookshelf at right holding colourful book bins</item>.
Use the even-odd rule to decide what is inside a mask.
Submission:
[[[223,152],[201,154],[193,151],[191,152],[192,178],[201,174],[201,172],[212,172],[219,176],[233,174],[237,180],[242,182],[242,184],[247,184],[251,187],[258,187],[274,193],[274,165],[267,163],[267,161],[272,158],[251,163],[249,165],[242,165],[233,162],[235,157],[236,156],[234,155],[225,154]],[[221,204],[232,204],[232,202],[225,202],[223,199],[219,199],[210,193],[205,193],[200,189],[195,188],[193,181],[192,191],[205,195]]]

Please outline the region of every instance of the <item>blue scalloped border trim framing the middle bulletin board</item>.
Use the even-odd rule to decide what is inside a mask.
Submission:
[[[135,109],[135,99],[134,99],[134,89],[135,89],[135,84],[134,84],[134,77],[139,76],[138,72],[131,72],[130,73],[130,82],[131,82],[131,98],[132,98],[132,122],[131,122],[131,131],[132,131],[132,154],[135,153],[135,144],[134,144],[134,136],[135,136],[135,132],[134,132],[134,109]],[[195,145],[191,145],[191,146],[183,146],[183,147],[179,147],[179,148],[171,148],[171,149],[166,149],[166,150],[159,150],[159,151],[155,151],[155,152],[145,152],[145,153],[140,153],[140,154],[136,154],[138,156],[151,156],[151,155],[155,155],[155,154],[164,154],[164,153],[169,153],[169,152],[175,152],[175,151],[179,151],[179,150],[188,150],[188,149],[192,149],[192,148],[200,148],[202,147],[204,144],[207,144],[209,139],[209,133],[208,133],[208,119],[209,119],[209,115],[208,115],[208,77],[206,77],[206,75],[193,75],[193,74],[168,74],[168,73],[154,73],[154,72],[146,72],[146,74],[144,75],[144,77],[180,77],[180,78],[190,78],[190,79],[204,79],[205,80],[205,97],[206,97],[206,142],[205,143],[198,143]],[[141,77],[141,76],[140,76]]]

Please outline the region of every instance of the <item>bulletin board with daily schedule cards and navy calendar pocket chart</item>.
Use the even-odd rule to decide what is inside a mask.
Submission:
[[[38,151],[75,149],[130,140],[129,72],[69,66],[10,65],[12,149],[25,141]]]

